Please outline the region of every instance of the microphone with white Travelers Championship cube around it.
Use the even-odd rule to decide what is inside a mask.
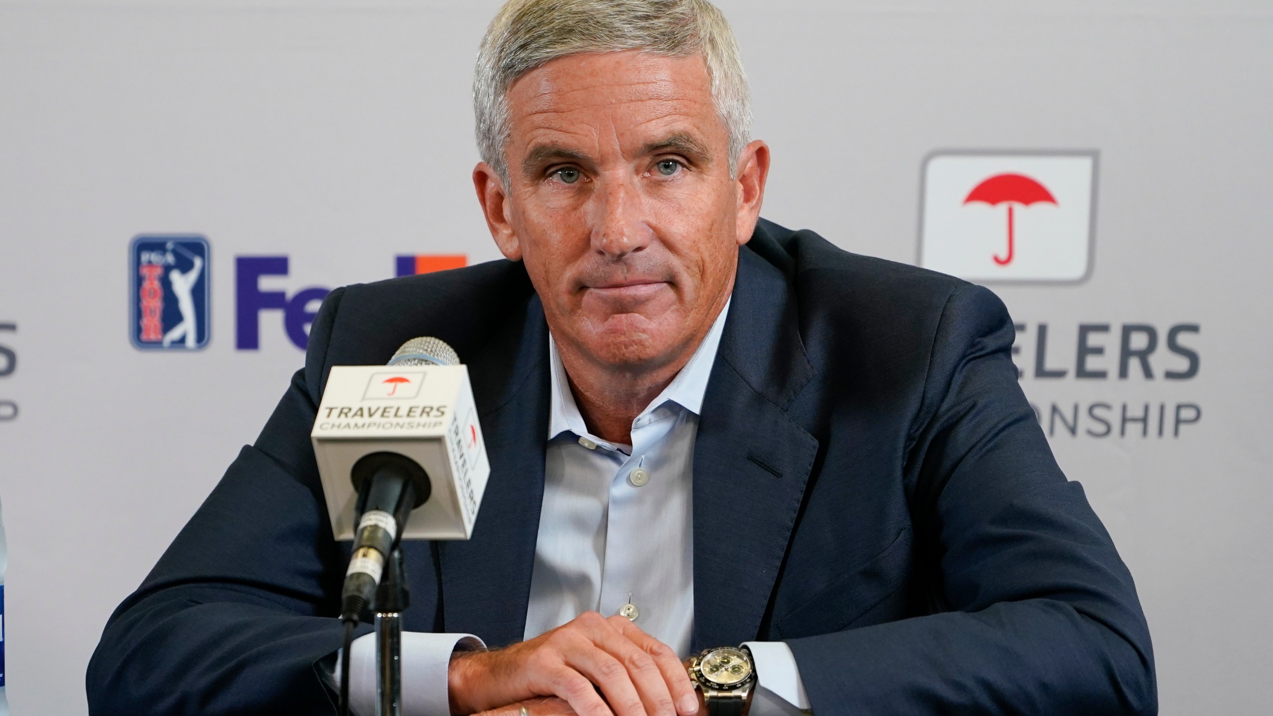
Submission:
[[[332,534],[354,540],[341,618],[356,622],[398,541],[472,534],[490,466],[468,371],[435,338],[334,366],[311,440]]]

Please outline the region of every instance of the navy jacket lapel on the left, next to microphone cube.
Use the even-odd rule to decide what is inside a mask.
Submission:
[[[443,624],[490,646],[522,640],[544,501],[547,325],[538,297],[468,363],[490,478],[468,541],[438,543]]]

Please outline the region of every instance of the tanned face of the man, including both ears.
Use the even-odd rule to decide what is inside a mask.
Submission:
[[[519,78],[508,107],[508,186],[485,164],[474,178],[554,336],[608,368],[687,357],[733,288],[768,168],[754,143],[731,178],[701,56],[563,57]]]

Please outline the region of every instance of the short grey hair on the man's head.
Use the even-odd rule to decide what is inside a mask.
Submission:
[[[509,0],[477,52],[474,115],[477,150],[508,186],[508,88],[523,74],[583,52],[639,50],[668,57],[701,54],[712,99],[729,134],[729,175],[751,139],[751,98],[729,23],[707,0]]]

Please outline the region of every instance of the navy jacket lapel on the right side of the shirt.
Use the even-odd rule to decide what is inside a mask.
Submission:
[[[745,246],[694,446],[694,650],[760,632],[817,455],[785,412],[811,376],[791,282]]]

